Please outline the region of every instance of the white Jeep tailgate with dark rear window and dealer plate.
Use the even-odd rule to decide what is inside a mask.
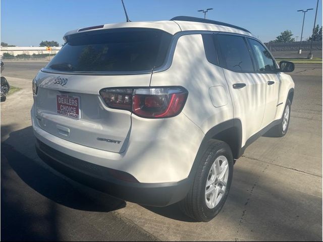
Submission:
[[[151,70],[163,64],[172,35],[156,29],[114,29],[68,36],[37,75],[34,96],[38,125],[73,143],[125,151],[131,112],[109,108],[103,88],[147,87]],[[132,102],[123,95],[116,102]]]

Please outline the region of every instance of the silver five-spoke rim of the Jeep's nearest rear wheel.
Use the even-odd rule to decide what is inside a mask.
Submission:
[[[212,164],[205,185],[205,203],[215,208],[224,197],[229,177],[229,163],[225,156],[219,156]]]

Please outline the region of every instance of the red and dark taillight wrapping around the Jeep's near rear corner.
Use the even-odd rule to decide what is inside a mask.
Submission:
[[[182,111],[188,92],[182,87],[107,88],[100,95],[108,107],[129,110],[140,117],[163,118]]]

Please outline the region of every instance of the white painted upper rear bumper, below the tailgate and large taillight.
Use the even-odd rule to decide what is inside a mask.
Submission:
[[[33,105],[31,120],[34,135],[47,146],[90,164],[126,172],[143,184],[177,183],[187,179],[204,137],[201,130],[182,113],[168,119],[134,115],[126,150],[116,153],[71,142],[66,137],[55,135],[55,132],[51,134],[40,127],[38,118],[41,119],[37,117]],[[71,128],[63,123],[61,125]],[[88,137],[83,139],[91,143]]]

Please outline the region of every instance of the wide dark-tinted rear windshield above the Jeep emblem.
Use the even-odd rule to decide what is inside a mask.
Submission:
[[[164,63],[172,35],[142,28],[68,36],[45,69],[64,72],[137,72]]]

